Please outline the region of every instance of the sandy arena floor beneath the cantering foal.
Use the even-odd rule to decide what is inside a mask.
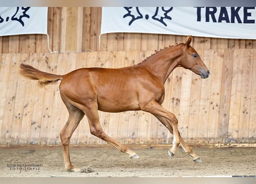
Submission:
[[[128,146],[132,148],[131,145]],[[192,147],[194,163],[179,147],[170,158],[165,147],[133,147],[129,159],[109,145],[71,146],[71,162],[83,173],[68,173],[60,146],[0,147],[0,177],[184,177],[256,175],[255,147]]]

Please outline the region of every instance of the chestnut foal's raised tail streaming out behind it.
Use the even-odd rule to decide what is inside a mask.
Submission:
[[[40,87],[45,87],[46,85],[51,85],[59,80],[62,80],[64,75],[55,75],[49,74],[47,72],[43,72],[33,68],[28,64],[20,64],[20,74],[25,78],[32,79],[38,81],[38,85]]]

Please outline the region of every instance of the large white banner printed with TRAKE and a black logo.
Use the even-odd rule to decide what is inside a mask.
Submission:
[[[255,7],[102,7],[101,34],[192,34],[256,39],[255,21]]]

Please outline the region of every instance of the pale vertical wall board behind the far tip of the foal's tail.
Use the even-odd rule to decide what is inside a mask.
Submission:
[[[30,64],[33,67],[37,67],[38,64],[39,54],[37,53],[30,53],[22,54],[20,63]],[[29,79],[22,78],[25,81],[24,88],[26,89],[26,94],[24,97],[24,109],[23,109],[23,116],[22,116],[22,125],[21,125],[21,133],[20,133],[20,142],[21,144],[28,144],[30,140],[30,128],[32,124],[36,122],[33,121],[33,112],[34,112],[34,96],[36,93],[36,89],[39,88],[37,86],[37,82],[30,81]]]

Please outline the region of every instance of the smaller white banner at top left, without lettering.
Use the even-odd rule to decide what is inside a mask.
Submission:
[[[47,34],[47,7],[0,7],[0,36]]]

